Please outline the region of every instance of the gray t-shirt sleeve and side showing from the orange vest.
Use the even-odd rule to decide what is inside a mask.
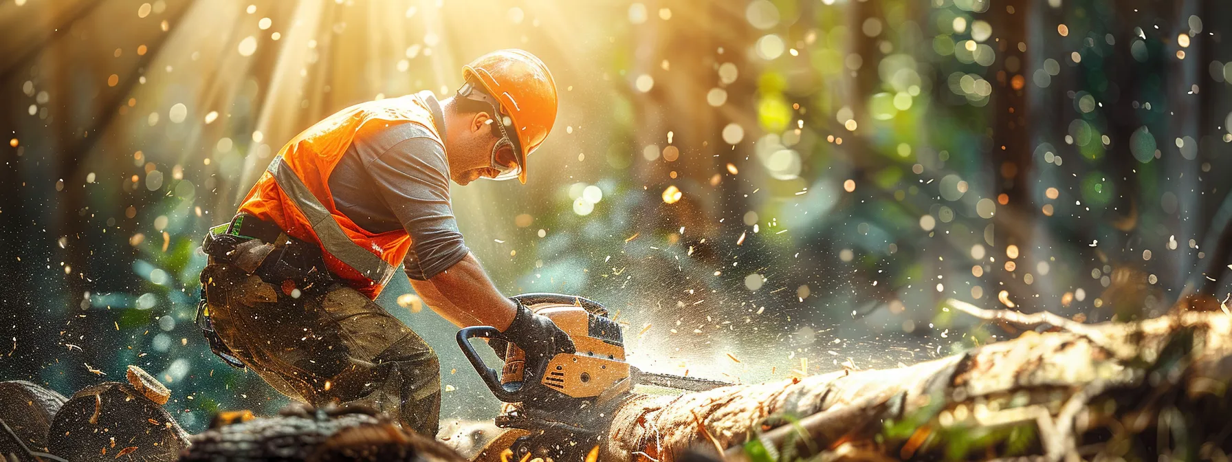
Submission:
[[[450,205],[445,147],[424,127],[366,123],[329,175],[329,188],[338,211],[365,230],[410,233],[403,269],[413,280],[426,281],[471,251]]]

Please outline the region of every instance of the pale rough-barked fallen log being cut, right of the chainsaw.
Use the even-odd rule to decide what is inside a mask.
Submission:
[[[1232,451],[1232,315],[1078,324],[951,307],[1072,330],[1027,330],[894,370],[637,395],[614,413],[601,460],[681,461],[699,450],[728,461],[1191,460]]]

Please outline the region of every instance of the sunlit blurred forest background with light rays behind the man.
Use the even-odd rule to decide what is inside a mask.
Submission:
[[[1225,299],[1232,4],[1217,0],[2,0],[0,379],[138,365],[192,432],[286,399],[193,324],[206,228],[291,137],[525,48],[561,113],[530,181],[453,187],[506,294],[605,303],[646,370],[759,382]],[[495,410],[453,328],[444,414]],[[11,344],[11,345],[9,345]],[[103,376],[105,375],[105,376]]]

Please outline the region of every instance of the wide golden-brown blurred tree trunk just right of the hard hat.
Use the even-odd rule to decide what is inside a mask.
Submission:
[[[676,292],[681,280],[703,281],[717,290],[723,278],[710,275],[713,267],[731,265],[738,255],[740,267],[755,269],[769,257],[749,251],[761,245],[752,233],[744,246],[731,245],[744,230],[740,216],[755,208],[752,192],[756,180],[750,179],[765,177],[753,156],[753,144],[760,137],[756,89],[761,70],[749,57],[756,31],[745,21],[743,4],[669,0],[647,4],[646,15],[646,22],[631,26],[628,49],[617,58],[623,74],[612,75],[616,90],[632,103],[628,132],[617,128],[612,134],[616,142],[601,154],[609,163],[625,159],[630,182],[646,186],[631,191],[639,198],[630,203],[628,218],[622,219],[630,235],[638,233],[643,239],[691,249],[689,259],[678,260],[680,278],[654,281],[631,296],[652,303],[662,299],[670,307],[676,301],[668,293]],[[721,68],[734,69],[734,80],[724,81]],[[648,91],[638,89],[643,75],[654,81]],[[707,101],[711,91],[726,95],[715,100],[719,105]],[[722,133],[733,123],[743,136],[729,144]],[[731,174],[727,164],[737,166],[739,175]],[[674,203],[663,200],[670,187],[680,191]],[[727,221],[719,223],[723,218]],[[697,310],[690,317],[710,314],[715,312]]]

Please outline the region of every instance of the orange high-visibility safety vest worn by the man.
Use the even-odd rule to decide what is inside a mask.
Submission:
[[[248,192],[239,211],[318,244],[325,266],[349,286],[376,298],[410,249],[405,229],[370,233],[334,206],[329,175],[370,121],[416,123],[441,142],[432,111],[420,95],[362,102],[291,139]],[[442,143],[444,145],[444,143]]]

